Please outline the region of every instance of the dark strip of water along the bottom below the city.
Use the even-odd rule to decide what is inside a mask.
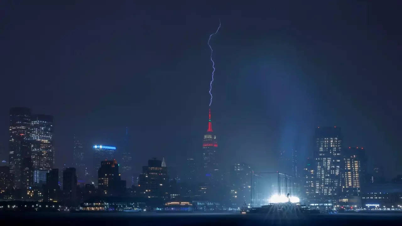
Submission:
[[[7,225],[402,225],[401,213],[319,214],[278,219],[264,214],[0,212]],[[10,224],[11,223],[11,224]]]

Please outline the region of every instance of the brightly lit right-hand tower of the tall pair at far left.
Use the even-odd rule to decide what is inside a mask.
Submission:
[[[53,116],[33,115],[29,140],[33,168],[35,170],[51,170],[54,163]]]

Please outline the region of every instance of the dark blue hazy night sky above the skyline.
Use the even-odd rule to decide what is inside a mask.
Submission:
[[[220,18],[211,111],[226,165],[273,171],[292,148],[303,161],[314,128],[337,126],[370,167],[402,173],[397,2],[72,2],[0,3],[3,159],[9,108],[30,107],[54,116],[57,167],[74,134],[119,149],[127,126],[135,172],[151,157],[177,171],[201,151]]]

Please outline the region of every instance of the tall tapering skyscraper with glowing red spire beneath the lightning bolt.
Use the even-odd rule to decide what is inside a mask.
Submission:
[[[218,164],[218,142],[216,140],[216,135],[212,130],[211,123],[211,109],[209,109],[209,120],[208,120],[208,129],[207,133],[203,138],[203,167],[206,177],[213,177],[219,174],[219,164]],[[204,176],[204,177],[205,177]]]

